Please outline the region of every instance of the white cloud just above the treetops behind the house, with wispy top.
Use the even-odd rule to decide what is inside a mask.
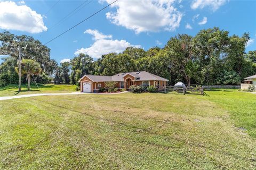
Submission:
[[[85,31],[89,33],[89,31]],[[97,32],[96,34],[90,33],[93,35],[93,39],[95,42],[93,45],[91,45],[89,48],[81,48],[77,49],[75,52],[75,55],[78,55],[80,53],[88,54],[94,58],[100,58],[104,54],[108,53],[121,53],[125,48],[127,47],[140,47],[139,45],[132,45],[129,42],[125,40],[113,40],[113,39],[107,39],[110,38],[110,35],[103,35],[101,32],[97,30],[91,30],[90,32]],[[99,34],[101,36],[98,36]],[[111,36],[112,37],[112,36]]]

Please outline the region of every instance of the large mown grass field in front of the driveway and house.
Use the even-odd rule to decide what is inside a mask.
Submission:
[[[0,169],[255,169],[256,95],[0,101]]]

